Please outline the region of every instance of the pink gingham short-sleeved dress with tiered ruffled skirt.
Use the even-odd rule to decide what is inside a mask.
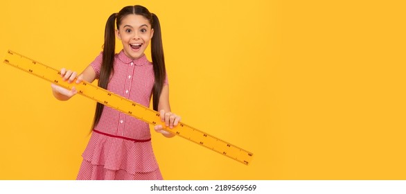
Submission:
[[[101,63],[102,53],[91,62],[96,78]],[[132,60],[121,51],[114,56],[107,90],[149,107],[154,80],[152,63],[145,55]],[[148,123],[105,106],[82,154],[77,179],[163,179],[150,140]]]

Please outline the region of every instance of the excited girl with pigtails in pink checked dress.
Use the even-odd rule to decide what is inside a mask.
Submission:
[[[114,53],[115,37],[123,44],[120,53]],[[152,63],[144,54],[150,41]],[[181,119],[170,112],[158,17],[143,6],[127,6],[112,14],[105,27],[103,52],[79,76],[66,69],[61,70],[61,76],[67,82],[77,78],[76,83],[98,79],[99,87],[145,107],[150,106],[152,96],[153,108],[170,128]],[[74,87],[69,91],[52,85],[52,90],[58,100],[69,100],[77,93]],[[174,136],[162,128],[154,127],[166,137]],[[98,103],[92,129],[77,179],[162,179],[148,123]]]

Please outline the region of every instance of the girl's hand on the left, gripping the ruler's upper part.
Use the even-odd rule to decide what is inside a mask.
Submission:
[[[75,78],[77,78],[76,84],[82,82],[82,80],[83,80],[82,74],[80,76],[78,76],[78,73],[76,73],[76,71],[71,71],[71,70],[67,70],[64,68],[61,69],[60,75],[62,77],[62,80],[65,82],[68,82],[68,83],[72,83],[75,80]],[[62,94],[63,96],[66,96],[67,98],[71,98],[72,96],[74,96],[75,94],[78,93],[78,91],[76,91],[75,87],[72,87],[71,90],[64,89],[63,87],[60,87],[60,86],[54,85],[54,84],[51,84],[51,87],[52,87],[52,90],[54,91],[54,94],[56,92],[58,94]],[[57,97],[57,96],[55,96],[55,97]]]

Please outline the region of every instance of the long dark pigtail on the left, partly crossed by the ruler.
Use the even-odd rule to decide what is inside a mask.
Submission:
[[[98,79],[98,86],[107,89],[109,84],[110,74],[113,73],[114,64],[114,52],[116,48],[116,34],[114,24],[116,21],[116,13],[110,15],[107,19],[105,27],[105,43],[103,44],[103,61],[100,69],[100,78]],[[97,103],[96,112],[94,114],[94,121],[92,129],[96,127],[98,121],[100,121],[101,114],[103,112],[104,105]]]

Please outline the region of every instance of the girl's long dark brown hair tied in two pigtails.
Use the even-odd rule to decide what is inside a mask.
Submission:
[[[164,87],[164,80],[166,76],[165,60],[164,60],[164,47],[162,46],[161,26],[157,15],[151,13],[147,8],[143,6],[127,6],[120,10],[118,13],[113,13],[107,19],[105,27],[105,43],[103,45],[103,62],[100,69],[100,78],[98,80],[98,86],[107,89],[109,84],[110,75],[113,72],[114,67],[114,51],[116,48],[116,35],[114,28],[114,21],[116,21],[117,29],[121,25],[121,20],[130,14],[142,15],[145,19],[148,19],[151,24],[151,28],[154,29],[154,35],[151,39],[151,55],[152,64],[154,68],[155,83],[152,91],[152,103],[153,108],[157,111],[159,104],[159,96],[161,96],[162,87]],[[96,112],[94,114],[93,126],[96,127],[100,116],[103,112],[104,105],[97,103]]]

